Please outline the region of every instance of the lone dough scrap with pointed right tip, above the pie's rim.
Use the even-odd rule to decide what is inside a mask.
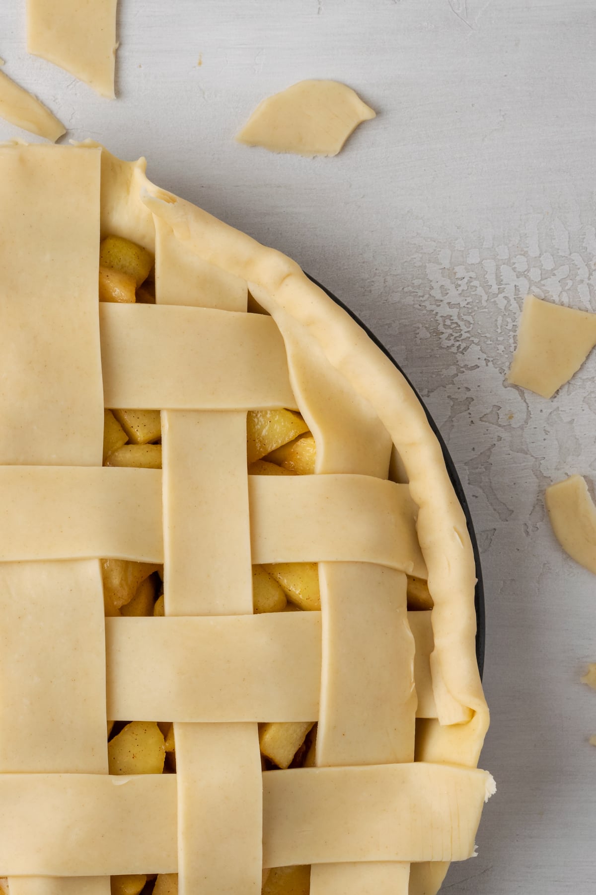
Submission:
[[[298,81],[264,99],[236,135],[247,146],[298,156],[336,156],[375,112],[339,81]]]

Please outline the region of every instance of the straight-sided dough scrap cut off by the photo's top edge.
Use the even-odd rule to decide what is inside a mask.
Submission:
[[[27,49],[113,99],[117,0],[27,0]]]

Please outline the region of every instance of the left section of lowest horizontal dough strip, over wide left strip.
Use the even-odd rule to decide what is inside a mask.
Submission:
[[[173,774],[0,774],[9,878],[174,873],[176,830]]]

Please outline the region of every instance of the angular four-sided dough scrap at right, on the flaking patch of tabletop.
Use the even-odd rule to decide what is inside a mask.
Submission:
[[[596,314],[528,295],[508,382],[552,397],[596,345]]]

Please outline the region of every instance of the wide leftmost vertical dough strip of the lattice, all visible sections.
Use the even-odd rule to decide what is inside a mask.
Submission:
[[[0,240],[0,404],[12,401],[10,415],[2,413],[0,460],[101,465],[99,153],[15,147],[0,153],[0,170],[4,208],[19,209]],[[106,774],[97,559],[3,563],[0,579],[0,768]],[[12,895],[110,895],[109,876],[28,876],[9,885]]]

